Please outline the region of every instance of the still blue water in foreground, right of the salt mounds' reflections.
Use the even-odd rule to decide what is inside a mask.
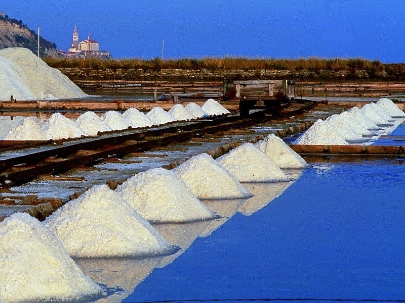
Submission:
[[[314,163],[154,269],[124,302],[405,298],[405,166]]]

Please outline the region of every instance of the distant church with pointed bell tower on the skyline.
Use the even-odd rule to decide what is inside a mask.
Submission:
[[[76,26],[73,30],[73,43],[69,47],[69,51],[59,53],[64,57],[75,57],[75,58],[101,58],[101,59],[111,59],[111,55],[108,51],[100,51],[99,42],[89,38],[79,42],[79,34],[77,32]]]

